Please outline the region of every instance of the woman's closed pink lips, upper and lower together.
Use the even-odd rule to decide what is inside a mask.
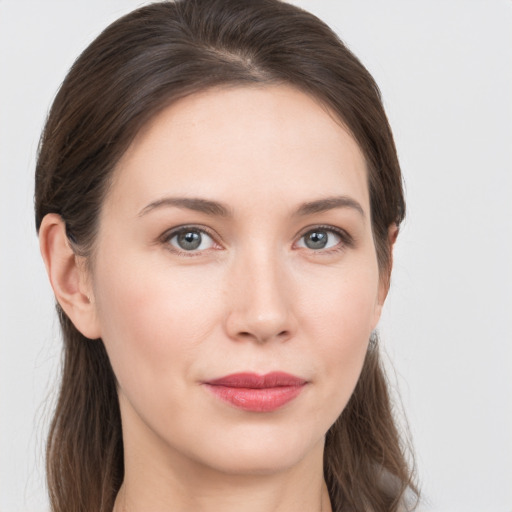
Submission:
[[[299,396],[305,379],[284,372],[233,373],[203,383],[217,398],[250,412],[272,412]]]

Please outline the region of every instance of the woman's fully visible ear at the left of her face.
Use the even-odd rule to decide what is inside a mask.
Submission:
[[[85,337],[99,338],[99,322],[85,260],[73,251],[60,215],[49,213],[43,218],[39,246],[60,306]]]

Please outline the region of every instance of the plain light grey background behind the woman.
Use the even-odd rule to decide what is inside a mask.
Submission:
[[[35,153],[79,52],[138,0],[0,0],[0,512],[47,510],[60,345]],[[406,180],[381,333],[429,510],[512,511],[512,2],[297,0],[381,86]],[[50,402],[45,402],[50,397]]]

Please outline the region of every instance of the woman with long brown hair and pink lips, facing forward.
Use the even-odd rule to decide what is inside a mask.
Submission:
[[[36,170],[53,510],[404,510],[375,334],[404,211],[377,86],[311,14],[188,0],[108,27]]]

